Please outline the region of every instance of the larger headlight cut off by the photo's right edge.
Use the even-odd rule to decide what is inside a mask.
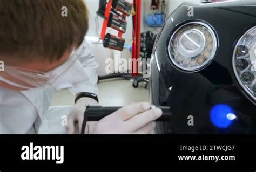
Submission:
[[[256,101],[256,26],[248,30],[235,46],[233,68],[239,84]]]

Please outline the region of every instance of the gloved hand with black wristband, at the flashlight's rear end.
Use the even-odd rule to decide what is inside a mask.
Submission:
[[[73,107],[72,111],[68,116],[68,132],[69,134],[74,134],[76,130],[76,123],[78,122],[79,133],[81,133],[81,128],[84,120],[84,112],[87,105],[98,106],[98,102],[91,98],[81,98],[79,99],[75,107]],[[85,133],[89,133],[89,129],[93,129],[96,122],[87,122],[87,127],[85,129]]]

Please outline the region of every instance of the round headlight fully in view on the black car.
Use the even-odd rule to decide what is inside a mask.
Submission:
[[[171,36],[168,53],[172,63],[185,71],[198,71],[209,64],[217,50],[217,37],[205,23],[190,22]]]

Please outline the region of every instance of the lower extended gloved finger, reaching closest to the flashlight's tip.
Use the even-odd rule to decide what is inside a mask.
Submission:
[[[150,111],[143,112],[139,115],[134,116],[130,120],[125,121],[125,126],[131,129],[131,132],[142,128],[148,123],[157,120],[161,115],[162,111],[159,108],[151,109]]]

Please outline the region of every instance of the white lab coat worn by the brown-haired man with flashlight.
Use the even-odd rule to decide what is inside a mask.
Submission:
[[[81,80],[78,79],[76,84],[70,85],[71,81],[64,77],[63,85],[59,87],[68,87],[74,94],[98,94],[98,64],[92,44],[84,39],[79,49],[84,51],[79,51],[79,60],[69,71],[79,71],[76,78]],[[83,80],[84,78],[87,79]],[[55,91],[54,87],[21,92],[0,87],[0,134],[66,134],[64,120],[73,106],[51,106]]]

